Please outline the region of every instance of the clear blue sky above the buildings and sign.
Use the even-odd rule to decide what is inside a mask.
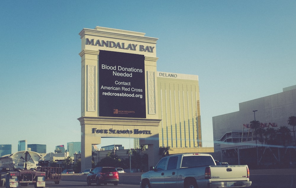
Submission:
[[[199,76],[204,147],[213,147],[213,116],[296,85],[295,0],[2,0],[0,144],[53,152],[80,141],[78,33],[96,26],[159,38],[157,71]]]

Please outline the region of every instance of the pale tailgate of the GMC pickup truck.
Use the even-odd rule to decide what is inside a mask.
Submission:
[[[219,181],[247,180],[247,167],[245,165],[211,166],[211,179]]]

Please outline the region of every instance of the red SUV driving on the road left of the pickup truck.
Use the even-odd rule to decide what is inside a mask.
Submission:
[[[107,185],[108,183],[118,185],[118,172],[113,167],[96,167],[88,175],[86,179],[87,185],[96,183],[96,185]]]

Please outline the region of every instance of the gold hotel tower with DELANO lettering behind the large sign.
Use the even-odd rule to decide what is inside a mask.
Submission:
[[[159,145],[202,147],[197,75],[157,72]]]

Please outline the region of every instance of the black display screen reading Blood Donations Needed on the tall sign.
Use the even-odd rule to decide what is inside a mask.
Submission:
[[[100,50],[99,116],[146,118],[144,59]]]

